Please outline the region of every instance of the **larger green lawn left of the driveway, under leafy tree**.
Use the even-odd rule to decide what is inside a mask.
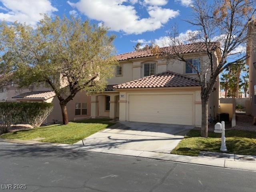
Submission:
[[[9,139],[32,140],[42,137],[40,141],[74,144],[104,128],[114,125],[110,119],[87,119],[69,122],[67,125],[53,124],[38,128],[20,130],[2,134],[0,137]]]

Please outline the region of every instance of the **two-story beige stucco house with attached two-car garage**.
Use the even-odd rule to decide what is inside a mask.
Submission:
[[[220,59],[217,44],[209,45],[215,67]],[[205,49],[204,43],[186,44],[181,54],[202,69],[208,61],[202,51]],[[201,87],[195,70],[188,64],[178,60],[167,62],[150,50],[128,52],[116,58],[119,65],[106,90],[92,94],[92,118],[201,126]],[[209,100],[210,117],[216,117],[218,112],[219,87],[218,80]]]

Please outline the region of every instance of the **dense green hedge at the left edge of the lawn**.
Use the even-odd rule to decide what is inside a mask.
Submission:
[[[12,124],[38,127],[52,112],[53,104],[46,102],[0,102],[0,132],[7,133]]]

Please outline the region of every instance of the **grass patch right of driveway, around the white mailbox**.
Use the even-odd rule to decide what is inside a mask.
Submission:
[[[256,155],[256,132],[228,130],[225,136],[228,153]],[[198,156],[200,151],[221,152],[220,138],[220,133],[209,132],[208,138],[202,138],[200,131],[191,130],[171,153]]]

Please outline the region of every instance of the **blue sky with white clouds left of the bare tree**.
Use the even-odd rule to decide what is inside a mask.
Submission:
[[[183,20],[191,14],[191,0],[0,0],[0,20],[26,22],[31,26],[42,16],[70,16],[105,23],[115,34],[116,53],[130,52],[138,42],[166,45],[163,37],[177,24],[183,35],[194,30]]]

